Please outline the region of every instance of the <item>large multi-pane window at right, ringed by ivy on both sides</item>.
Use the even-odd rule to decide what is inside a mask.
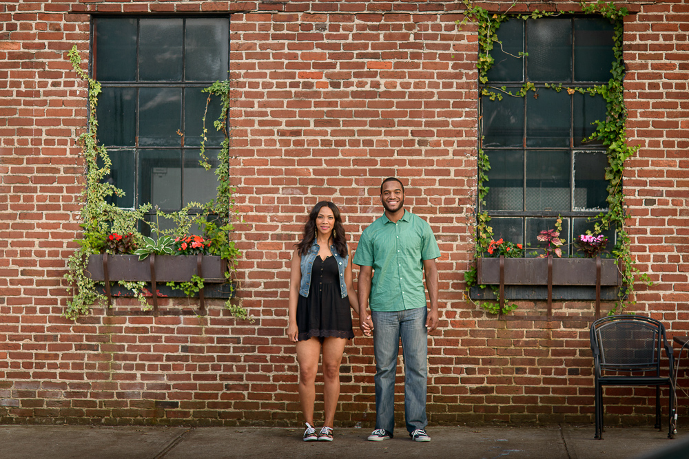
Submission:
[[[605,119],[606,103],[573,89],[610,80],[613,24],[580,17],[511,19],[497,38],[495,64],[482,87],[504,97],[482,96],[480,104],[481,147],[491,164],[482,210],[491,216],[495,237],[531,247],[561,215],[562,236],[571,242],[593,229],[592,217],[608,208],[606,149],[584,141],[595,131],[591,123]],[[535,92],[505,94],[516,94],[527,82]],[[614,231],[608,237],[612,242]]]

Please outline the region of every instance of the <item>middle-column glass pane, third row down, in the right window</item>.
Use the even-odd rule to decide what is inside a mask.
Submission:
[[[568,151],[526,152],[526,210],[570,210]]]

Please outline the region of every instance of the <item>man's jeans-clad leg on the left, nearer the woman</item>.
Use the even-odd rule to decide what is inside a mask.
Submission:
[[[395,373],[400,348],[398,312],[371,311],[376,356],[376,429],[395,429]]]

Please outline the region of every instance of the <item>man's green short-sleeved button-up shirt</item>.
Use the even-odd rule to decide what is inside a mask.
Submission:
[[[423,262],[440,257],[431,226],[404,211],[397,223],[383,213],[359,239],[353,264],[373,267],[369,307],[401,311],[426,307]]]

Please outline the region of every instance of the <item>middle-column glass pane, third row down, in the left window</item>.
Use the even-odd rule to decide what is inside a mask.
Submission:
[[[138,204],[150,202],[163,211],[178,211],[182,202],[182,153],[141,150],[138,153]]]

